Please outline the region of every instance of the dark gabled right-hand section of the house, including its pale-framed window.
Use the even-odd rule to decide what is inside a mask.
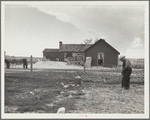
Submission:
[[[92,66],[114,67],[118,66],[118,55],[120,53],[108,44],[104,39],[100,39],[84,50],[86,57],[92,58]]]

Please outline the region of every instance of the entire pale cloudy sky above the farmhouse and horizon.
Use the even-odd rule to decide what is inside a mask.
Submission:
[[[6,55],[43,57],[45,48],[59,49],[59,41],[64,44],[83,44],[86,39],[94,41],[103,38],[120,55],[144,57],[143,4],[87,3],[5,4]]]

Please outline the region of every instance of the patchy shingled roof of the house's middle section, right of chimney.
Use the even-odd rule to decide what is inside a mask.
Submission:
[[[83,52],[92,44],[62,44],[60,52]]]

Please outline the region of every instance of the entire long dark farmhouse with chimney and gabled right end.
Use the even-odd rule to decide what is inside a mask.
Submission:
[[[120,53],[104,39],[94,44],[63,44],[59,49],[44,49],[43,57],[51,61],[66,61],[70,64],[83,65],[87,57],[91,58],[92,66],[113,67],[118,65]]]

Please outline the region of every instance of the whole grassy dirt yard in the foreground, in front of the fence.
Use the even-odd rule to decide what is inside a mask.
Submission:
[[[130,90],[121,93],[119,70],[5,70],[5,113],[144,113],[143,70],[133,70]],[[64,88],[81,76],[82,87]],[[138,76],[138,77],[136,77]]]

